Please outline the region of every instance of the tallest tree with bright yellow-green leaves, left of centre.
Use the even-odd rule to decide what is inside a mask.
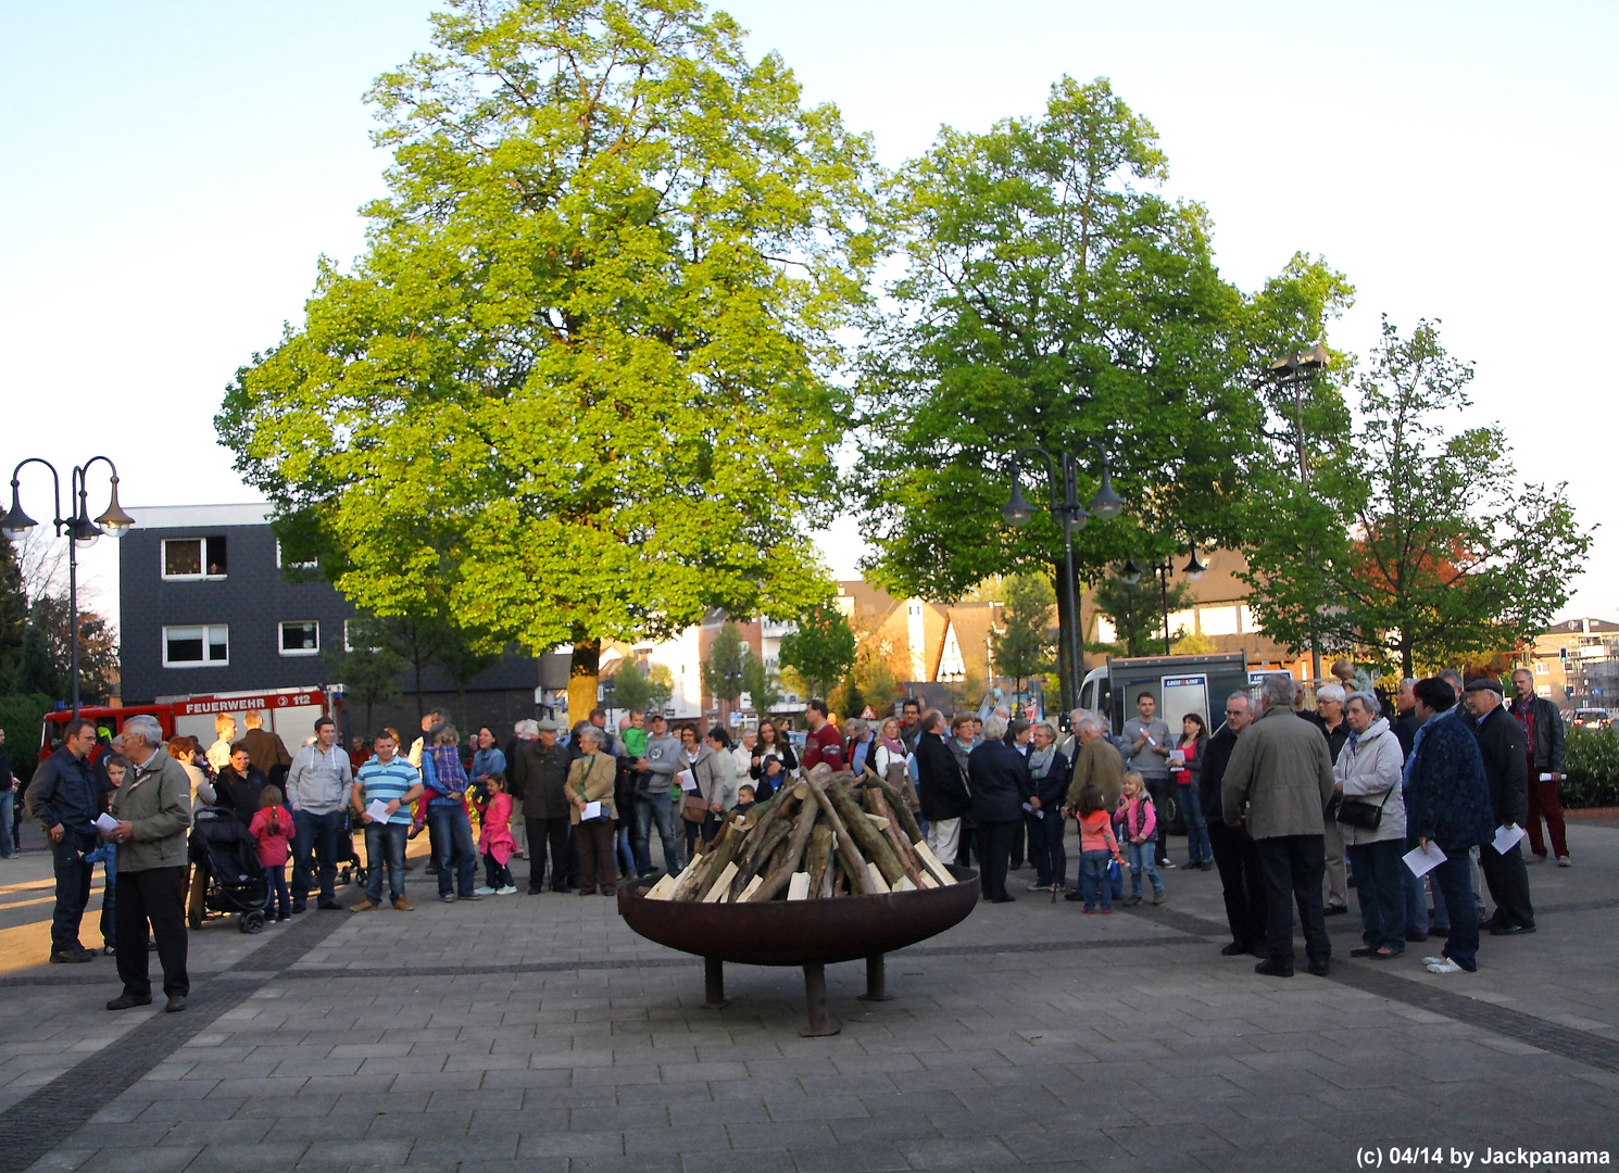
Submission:
[[[432,19],[369,94],[369,248],[217,427],[290,557],[376,615],[572,644],[589,707],[604,637],[824,595],[871,147],[696,0]]]

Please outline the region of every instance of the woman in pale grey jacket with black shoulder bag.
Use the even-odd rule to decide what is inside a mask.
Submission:
[[[1366,812],[1379,811],[1376,828],[1344,822],[1339,827],[1350,867],[1355,869],[1355,895],[1360,898],[1360,940],[1352,958],[1387,961],[1405,951],[1405,888],[1400,879],[1405,854],[1405,799],[1402,773],[1405,756],[1389,723],[1378,717],[1373,692],[1353,692],[1344,702],[1349,741],[1337,756],[1332,777],[1344,802],[1363,804]]]

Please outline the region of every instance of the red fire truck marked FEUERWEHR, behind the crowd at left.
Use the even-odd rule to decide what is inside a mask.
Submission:
[[[246,731],[243,720],[248,710],[264,714],[264,728],[278,733],[290,749],[296,749],[314,736],[319,717],[342,720],[342,686],[311,684],[309,688],[277,688],[259,692],[204,692],[183,697],[162,697],[149,705],[79,705],[79,717],[96,722],[97,730],[108,736],[123,731],[131,717],[155,717],[164,726],[164,736],[196,738],[207,749],[215,738],[214,718],[225,714],[236,722],[236,735]],[[39,760],[45,760],[62,744],[62,728],[73,717],[71,709],[45,714],[40,736]],[[96,754],[100,756],[100,746]]]

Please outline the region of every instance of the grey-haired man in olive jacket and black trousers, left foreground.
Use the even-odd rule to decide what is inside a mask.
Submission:
[[[123,723],[130,772],[112,799],[117,825],[102,838],[118,845],[118,977],[123,993],[107,1010],[152,1003],[146,932],[151,924],[164,966],[165,1010],[186,1008],[186,830],[191,827],[191,778],[164,752],[155,717]]]

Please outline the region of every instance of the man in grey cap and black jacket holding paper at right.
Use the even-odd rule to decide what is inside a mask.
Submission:
[[[1523,730],[1502,707],[1504,691],[1493,676],[1480,676],[1467,686],[1467,712],[1473,715],[1473,736],[1485,757],[1485,781],[1489,783],[1489,806],[1496,825],[1512,830],[1528,815],[1528,751]],[[1485,925],[1491,937],[1517,937],[1535,932],[1535,908],[1528,900],[1528,869],[1523,853],[1514,843],[1504,853],[1485,843],[1478,849],[1478,866],[1485,872],[1496,913]],[[1452,909],[1452,916],[1454,916]]]

